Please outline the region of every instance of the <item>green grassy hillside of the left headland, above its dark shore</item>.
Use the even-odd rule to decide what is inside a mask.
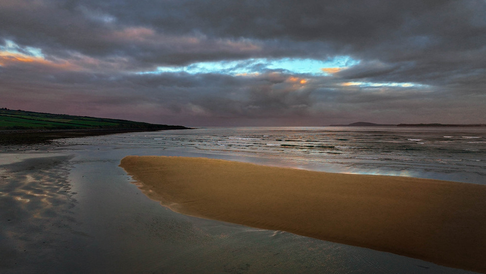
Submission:
[[[0,130],[11,129],[183,129],[118,119],[0,109]]]

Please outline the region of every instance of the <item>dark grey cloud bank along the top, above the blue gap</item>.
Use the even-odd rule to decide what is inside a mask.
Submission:
[[[161,63],[335,53],[404,61],[486,42],[483,1],[6,0],[3,6],[2,36],[23,44]]]

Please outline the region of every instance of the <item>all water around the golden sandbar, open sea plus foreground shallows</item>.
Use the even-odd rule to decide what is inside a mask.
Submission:
[[[471,273],[175,213],[118,166],[127,155],[486,183],[483,127],[196,128],[0,146],[0,272]]]

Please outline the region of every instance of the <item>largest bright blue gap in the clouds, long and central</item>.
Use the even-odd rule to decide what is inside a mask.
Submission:
[[[156,71],[144,73],[221,73],[238,75],[244,73],[264,73],[281,71],[295,74],[328,75],[323,68],[345,68],[358,64],[360,61],[350,56],[335,56],[326,60],[309,58],[251,58],[232,61],[197,62],[187,66],[158,67]]]

